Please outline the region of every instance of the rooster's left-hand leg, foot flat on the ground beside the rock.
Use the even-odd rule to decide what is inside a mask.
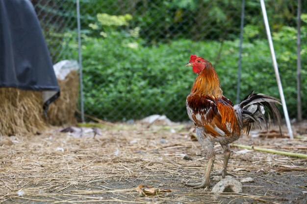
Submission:
[[[205,171],[205,175],[203,177],[203,181],[202,182],[197,182],[197,183],[186,183],[186,185],[188,186],[192,186],[194,188],[204,188],[205,186],[210,186],[210,172],[211,169],[213,167],[213,163],[215,160],[215,152],[214,152],[214,147],[213,147],[213,143],[210,140],[207,139],[199,139],[199,142],[201,143],[201,145],[203,146],[204,150],[205,150],[205,154],[207,155],[207,159],[208,159],[208,166],[207,169]]]

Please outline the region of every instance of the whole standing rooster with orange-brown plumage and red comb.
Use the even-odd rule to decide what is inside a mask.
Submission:
[[[196,128],[196,136],[205,150],[208,166],[203,180],[197,183],[186,183],[194,188],[204,188],[210,185],[210,172],[215,159],[213,145],[221,144],[224,151],[224,162],[220,175],[225,178],[227,164],[230,158],[229,144],[255,127],[265,125],[268,129],[271,123],[270,114],[278,120],[281,115],[276,104],[279,100],[261,93],[252,92],[240,104],[234,105],[223,95],[220,80],[212,64],[202,57],[191,55],[186,66],[192,66],[198,74],[190,94],[186,98],[186,109],[190,120]],[[268,113],[266,113],[268,112]]]

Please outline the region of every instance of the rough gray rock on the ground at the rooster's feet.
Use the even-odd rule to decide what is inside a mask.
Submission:
[[[240,193],[242,192],[242,184],[235,179],[223,179],[215,184],[212,188],[214,193],[223,193],[223,192],[233,192]]]

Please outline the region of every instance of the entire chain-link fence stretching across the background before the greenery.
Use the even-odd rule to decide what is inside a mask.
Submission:
[[[32,3],[53,63],[77,60],[76,0]],[[297,2],[267,0],[266,7],[289,114],[294,118]],[[80,0],[85,113],[109,121],[151,114],[188,120],[185,97],[196,77],[185,67],[190,54],[211,61],[224,94],[235,102],[240,19],[240,0]],[[301,30],[301,41],[306,42],[306,1]],[[306,53],[307,45],[302,43],[302,93],[307,92]],[[240,89],[241,99],[253,90],[279,97],[258,0],[245,5]],[[303,94],[303,116],[306,100]]]

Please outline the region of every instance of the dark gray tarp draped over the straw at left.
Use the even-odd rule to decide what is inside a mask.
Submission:
[[[29,0],[0,0],[0,88],[48,91],[44,109],[59,96],[50,54]],[[51,92],[53,91],[53,93]]]

